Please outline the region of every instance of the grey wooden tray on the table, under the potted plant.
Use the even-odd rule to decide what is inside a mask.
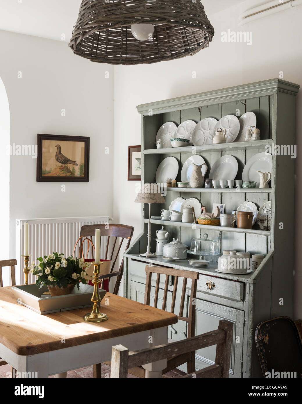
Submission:
[[[66,311],[74,309],[82,309],[84,307],[91,307],[91,297],[93,293],[93,286],[80,284],[80,290],[74,288],[70,295],[55,296],[49,295],[42,296],[44,292],[48,292],[47,286],[39,289],[39,285],[20,285],[12,286],[16,299],[19,304],[36,311],[39,314],[55,313],[57,311]],[[106,295],[106,290],[99,289],[101,299]]]

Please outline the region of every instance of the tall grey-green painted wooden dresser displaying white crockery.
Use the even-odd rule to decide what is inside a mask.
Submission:
[[[236,179],[242,179],[245,163],[257,153],[266,151],[267,145],[294,145],[295,98],[299,86],[284,80],[272,79],[245,84],[207,93],[200,93],[165,101],[139,105],[141,114],[142,181],[155,182],[155,173],[160,162],[174,156],[179,162],[177,181],[180,181],[182,165],[192,154],[201,155],[211,170],[214,162],[226,154],[234,156],[239,165]],[[252,111],[257,117],[260,141],[226,143],[206,146],[189,146],[171,149],[156,149],[156,133],[168,121],[179,125],[185,120],[199,122],[213,117],[219,120],[228,114],[241,116]],[[288,150],[288,147],[285,148]],[[146,273],[145,266],[162,265],[177,269],[190,269],[200,273],[196,300],[196,334],[202,334],[218,327],[220,319],[234,324],[234,340],[230,364],[230,377],[261,377],[261,371],[254,342],[258,323],[276,316],[293,314],[293,272],[294,272],[294,158],[290,155],[277,156],[272,153],[271,187],[265,189],[184,189],[168,188],[165,205],[151,205],[151,215],[160,215],[162,208],[169,209],[177,197],[198,198],[203,205],[222,203],[226,212],[237,210],[245,201],[254,202],[259,207],[272,201],[272,221],[270,231],[230,227],[215,227],[186,223],[152,220],[152,248],[156,250],[156,230],[164,225],[171,238],[179,238],[190,247],[192,238],[203,237],[218,240],[220,249],[249,251],[264,254],[265,259],[256,271],[246,275],[222,274],[215,271],[217,262],[208,268],[195,269],[188,261],[166,263],[160,257],[146,259],[139,257],[147,249],[148,204],[142,207],[142,232],[124,254],[125,297],[144,301]],[[209,174],[208,171],[208,174]],[[207,176],[206,176],[207,177]],[[191,256],[192,257],[192,256]],[[216,259],[217,261],[217,259]],[[207,282],[215,283],[215,288],[207,288]],[[164,279],[161,292],[164,289]],[[155,286],[155,279],[154,284]],[[178,288],[179,294],[181,286]],[[169,299],[173,292],[173,280],[169,285]],[[190,297],[190,283],[187,285],[187,302]],[[180,304],[180,295],[177,297]],[[158,299],[161,307],[161,296]],[[177,309],[177,307],[176,307]],[[176,312],[176,311],[175,311]],[[186,338],[186,324],[179,321],[169,328],[169,338]],[[215,362],[215,347],[196,352],[196,366],[203,368]],[[184,366],[186,370],[186,366]]]

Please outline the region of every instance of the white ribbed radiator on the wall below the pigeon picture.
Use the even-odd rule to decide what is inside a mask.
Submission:
[[[16,220],[16,284],[24,284],[24,223],[29,224],[29,265],[38,257],[44,257],[53,252],[72,255],[74,244],[80,236],[80,229],[84,225],[109,223],[108,216],[101,217],[60,217],[53,219],[18,219]],[[105,255],[106,240],[101,237],[101,257]],[[78,254],[78,247],[76,250]],[[35,261],[38,263],[38,261]],[[21,264],[21,265],[20,265]],[[34,283],[36,277],[29,274],[28,283]]]

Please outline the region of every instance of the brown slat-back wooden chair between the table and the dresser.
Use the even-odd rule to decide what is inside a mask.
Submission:
[[[180,311],[177,315],[178,320],[183,320],[188,322],[188,332],[187,337],[191,338],[195,336],[195,301],[196,301],[196,290],[197,290],[197,280],[199,279],[199,274],[194,271],[184,271],[182,269],[173,269],[166,267],[151,267],[146,265],[146,287],[145,287],[145,297],[144,304],[150,305],[150,295],[151,295],[151,279],[152,274],[156,275],[156,285],[154,291],[154,307],[157,307],[158,303],[158,292],[159,292],[159,284],[160,284],[160,276],[165,275],[165,289],[163,293],[163,305],[162,309],[167,309],[167,295],[168,295],[168,287],[169,287],[169,277],[174,277],[174,288],[172,293],[172,302],[171,302],[171,313],[175,311],[175,302],[176,302],[176,294],[177,294],[177,284],[178,278],[183,278],[182,284],[182,295],[180,300]],[[184,317],[184,305],[186,300],[186,286],[187,280],[191,279],[191,292],[190,292],[190,303],[189,303],[189,312],[188,317]],[[173,358],[168,359],[167,368],[163,370],[163,373],[169,372],[169,370],[177,368],[184,363],[187,363],[187,372],[191,373],[195,371],[195,351],[186,352],[182,355],[173,356]],[[145,372],[142,367],[139,368],[129,368],[129,373],[138,377],[144,377]]]

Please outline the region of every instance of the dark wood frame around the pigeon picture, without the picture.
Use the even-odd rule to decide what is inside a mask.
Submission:
[[[42,175],[42,144],[43,140],[53,140],[58,144],[61,142],[84,142],[84,175],[79,176],[48,176]],[[89,182],[89,148],[90,137],[86,136],[65,136],[65,135],[43,135],[37,134],[38,157],[37,157],[37,181],[47,182]],[[64,154],[64,153],[63,153]],[[67,156],[70,157],[70,156]],[[62,164],[63,165],[63,164]]]

